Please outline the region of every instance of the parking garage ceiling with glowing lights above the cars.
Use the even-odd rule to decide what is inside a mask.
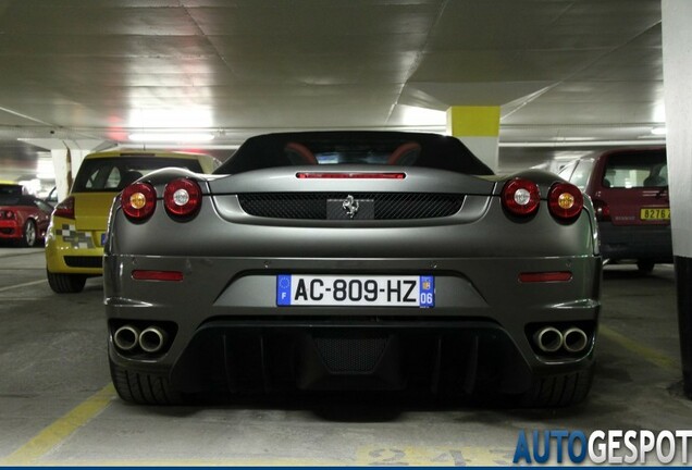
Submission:
[[[501,106],[508,147],[664,124],[659,0],[0,0],[0,60],[16,160],[146,132],[444,132],[457,104]]]

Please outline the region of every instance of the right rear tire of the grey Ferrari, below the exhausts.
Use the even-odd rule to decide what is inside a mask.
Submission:
[[[520,405],[528,408],[560,408],[583,401],[591,389],[593,366],[586,370],[536,378],[532,387],[521,396]]]

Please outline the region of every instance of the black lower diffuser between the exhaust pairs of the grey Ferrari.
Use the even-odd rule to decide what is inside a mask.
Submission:
[[[569,370],[590,362],[583,359]],[[171,371],[172,385],[183,392],[517,394],[531,380],[506,331],[469,320],[214,320],[200,326]]]

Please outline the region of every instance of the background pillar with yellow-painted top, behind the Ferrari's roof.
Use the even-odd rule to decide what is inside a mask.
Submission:
[[[499,107],[449,108],[447,134],[457,137],[491,170],[497,171]]]

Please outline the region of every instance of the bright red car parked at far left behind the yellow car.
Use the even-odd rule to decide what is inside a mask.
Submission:
[[[41,199],[24,195],[21,185],[0,185],[0,240],[36,246],[46,236],[52,210]]]

